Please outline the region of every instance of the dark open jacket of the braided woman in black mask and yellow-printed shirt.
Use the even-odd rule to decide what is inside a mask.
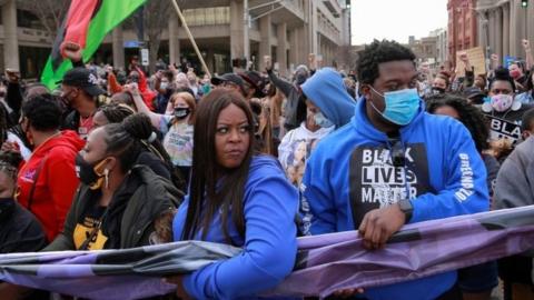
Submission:
[[[73,232],[81,217],[96,206],[95,191],[80,183],[61,232],[43,251],[76,250]],[[128,249],[147,246],[155,232],[154,221],[181,201],[182,193],[172,183],[146,166],[136,166],[125,178],[109,203],[102,223],[108,237],[105,249]]]

